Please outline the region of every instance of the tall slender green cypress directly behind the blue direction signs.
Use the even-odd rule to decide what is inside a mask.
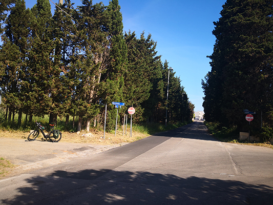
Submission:
[[[107,32],[109,38],[109,64],[107,72],[102,75],[100,84],[100,98],[103,104],[111,101],[123,101],[124,71],[127,69],[127,47],[123,37],[122,14],[118,0],[112,0],[106,10],[108,23]],[[122,108],[123,110],[125,108]],[[122,110],[121,109],[121,110]],[[108,129],[115,125],[116,111],[113,107],[108,109]]]

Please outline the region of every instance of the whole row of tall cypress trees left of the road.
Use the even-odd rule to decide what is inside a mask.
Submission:
[[[23,113],[26,121],[49,115],[55,123],[57,116],[67,122],[78,116],[78,131],[82,124],[89,130],[91,122],[103,121],[105,104],[118,101],[125,103],[119,113],[136,108],[135,122],[165,121],[168,63],[157,55],[151,35],[123,34],[118,0],[109,6],[82,0],[77,8],[67,0],[53,16],[48,0],[37,0],[31,9],[24,0],[0,2],[0,84],[9,120],[12,113],[18,113],[18,126]],[[193,116],[180,84],[171,71],[168,121]],[[108,106],[108,129],[115,118]]]

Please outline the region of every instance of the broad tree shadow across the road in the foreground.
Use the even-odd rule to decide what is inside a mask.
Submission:
[[[236,180],[82,170],[33,176],[1,204],[273,204],[273,188]]]

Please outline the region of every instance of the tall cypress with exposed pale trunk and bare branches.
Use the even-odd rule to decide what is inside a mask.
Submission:
[[[80,24],[79,33],[82,36],[80,42],[85,55],[85,76],[82,92],[82,103],[88,106],[80,117],[86,120],[86,129],[89,131],[91,119],[94,119],[94,127],[98,118],[100,96],[98,94],[101,83],[101,75],[106,73],[110,64],[110,42],[108,39],[108,14],[106,8],[100,4],[92,5],[92,1],[83,1],[83,6],[79,7]],[[83,91],[83,90],[82,90]]]

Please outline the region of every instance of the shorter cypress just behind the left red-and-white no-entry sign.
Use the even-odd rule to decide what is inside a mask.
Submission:
[[[143,32],[137,39],[135,32],[129,32],[124,37],[128,48],[128,67],[124,73],[123,95],[128,105],[137,107],[134,119],[139,122],[146,118],[142,104],[150,97],[153,72],[160,56],[156,56],[156,43],[151,34],[145,38]]]

